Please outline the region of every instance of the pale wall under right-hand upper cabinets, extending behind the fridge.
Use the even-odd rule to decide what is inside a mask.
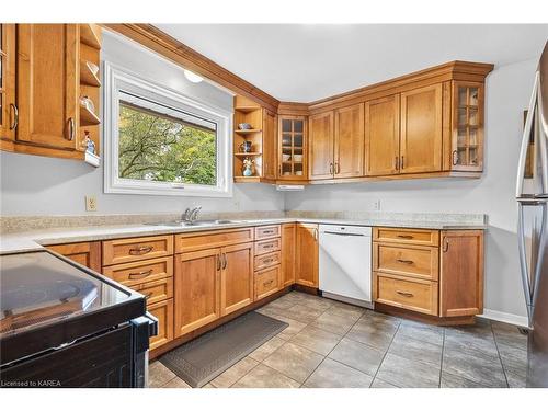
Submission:
[[[286,209],[482,213],[486,237],[486,309],[524,316],[516,242],[515,178],[523,111],[537,60],[498,67],[487,79],[486,159],[479,180],[408,180],[308,186],[286,195]]]

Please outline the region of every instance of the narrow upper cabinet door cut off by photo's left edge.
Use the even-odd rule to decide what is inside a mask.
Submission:
[[[0,138],[15,139],[15,24],[0,24]]]

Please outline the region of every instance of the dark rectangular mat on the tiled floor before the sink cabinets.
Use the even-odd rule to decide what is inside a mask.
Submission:
[[[289,324],[251,311],[159,359],[191,387],[202,387]]]

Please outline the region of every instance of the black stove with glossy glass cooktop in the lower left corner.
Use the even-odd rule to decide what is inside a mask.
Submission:
[[[146,316],[142,295],[62,256],[0,255],[1,386],[144,385],[141,354],[156,327]]]

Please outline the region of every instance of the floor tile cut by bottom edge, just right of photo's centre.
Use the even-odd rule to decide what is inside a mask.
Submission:
[[[305,383],[309,388],[368,388],[373,377],[326,358]]]

